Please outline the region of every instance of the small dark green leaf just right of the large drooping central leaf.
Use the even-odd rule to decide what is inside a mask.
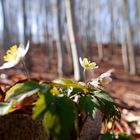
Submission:
[[[85,111],[91,119],[95,119],[98,101],[96,98],[91,96],[82,96],[80,97],[79,106],[81,111]]]

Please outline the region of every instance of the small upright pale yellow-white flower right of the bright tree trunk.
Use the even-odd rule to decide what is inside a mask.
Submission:
[[[85,70],[87,70],[87,69],[96,69],[96,68],[98,68],[98,66],[96,65],[95,62],[90,62],[87,58],[84,58],[84,59],[82,60],[82,58],[80,57],[80,58],[79,58],[79,61],[80,61],[81,66],[82,66]]]

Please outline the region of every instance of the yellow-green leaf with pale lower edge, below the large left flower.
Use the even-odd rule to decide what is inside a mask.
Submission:
[[[35,81],[17,83],[6,92],[5,101],[10,101],[13,99],[17,100],[19,98],[25,98],[26,96],[32,96],[40,89],[42,89],[41,86]]]

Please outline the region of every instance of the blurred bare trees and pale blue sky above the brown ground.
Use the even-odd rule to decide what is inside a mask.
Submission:
[[[92,60],[93,45],[100,60],[104,60],[105,46],[109,58],[121,48],[124,69],[132,75],[139,72],[139,0],[0,0],[0,21],[4,52],[11,44],[30,40],[46,47],[50,63],[55,46],[60,76],[67,52],[75,79],[82,79],[78,58]]]

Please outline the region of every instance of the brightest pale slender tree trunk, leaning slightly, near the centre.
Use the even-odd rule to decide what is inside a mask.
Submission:
[[[71,50],[72,50],[72,59],[73,59],[73,67],[74,67],[74,79],[80,80],[80,68],[79,68],[79,62],[78,62],[78,52],[77,52],[77,44],[75,39],[75,33],[74,33],[74,24],[73,24],[73,18],[72,18],[72,3],[73,0],[66,0],[66,16],[67,16],[67,26],[68,26],[68,35],[70,39],[71,44]]]

